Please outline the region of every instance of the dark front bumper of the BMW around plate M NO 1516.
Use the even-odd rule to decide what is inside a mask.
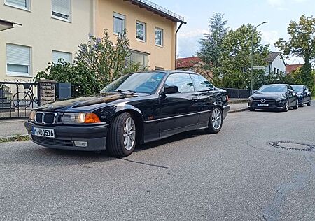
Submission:
[[[34,122],[25,122],[31,141],[47,148],[61,150],[100,151],[106,150],[106,136],[108,124],[100,125],[39,125]],[[55,138],[46,138],[32,134],[32,128],[54,129]],[[87,142],[86,147],[78,147],[75,141]]]

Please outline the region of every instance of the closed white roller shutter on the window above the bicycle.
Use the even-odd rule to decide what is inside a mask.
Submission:
[[[31,64],[31,49],[21,45],[6,45],[6,63],[29,66]]]

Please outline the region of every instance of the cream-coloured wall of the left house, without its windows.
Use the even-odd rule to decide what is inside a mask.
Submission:
[[[70,22],[52,18],[50,0],[30,0],[30,3],[30,10],[22,10],[0,0],[0,19],[22,24],[0,31],[0,81],[32,80],[38,70],[43,71],[52,61],[52,50],[71,52],[73,59],[78,45],[93,32],[93,0],[71,0]],[[31,76],[8,75],[6,43],[31,47]]]

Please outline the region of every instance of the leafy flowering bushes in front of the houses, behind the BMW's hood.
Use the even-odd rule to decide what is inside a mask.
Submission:
[[[45,71],[38,71],[34,81],[45,78],[71,83],[80,89],[76,95],[94,94],[126,71],[138,71],[138,64],[126,64],[129,56],[126,31],[118,36],[114,45],[109,39],[109,32],[105,30],[102,38],[89,35],[89,41],[78,46],[73,64],[62,59],[57,64],[50,62]]]

